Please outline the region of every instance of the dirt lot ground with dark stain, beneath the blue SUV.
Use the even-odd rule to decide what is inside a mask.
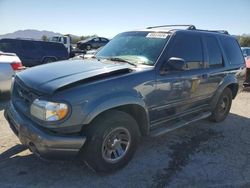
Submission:
[[[0,187],[250,187],[250,93],[222,123],[146,138],[124,169],[97,175],[77,161],[45,162],[22,147],[0,107]]]

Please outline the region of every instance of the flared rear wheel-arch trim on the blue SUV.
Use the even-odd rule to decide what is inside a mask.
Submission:
[[[228,87],[230,84],[236,84],[237,86],[239,85],[237,78],[233,74],[227,75],[220,83],[218,89],[215,92],[215,95],[212,97],[211,100],[211,111],[213,111],[216,107],[216,104],[224,91],[226,87]],[[238,90],[238,89],[237,89]]]

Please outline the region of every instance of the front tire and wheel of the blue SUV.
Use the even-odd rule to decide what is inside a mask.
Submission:
[[[140,138],[133,117],[122,111],[110,110],[89,126],[80,157],[93,170],[112,172],[132,159]]]

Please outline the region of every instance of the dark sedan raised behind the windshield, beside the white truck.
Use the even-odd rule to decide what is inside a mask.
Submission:
[[[103,37],[91,37],[77,42],[77,48],[80,50],[91,50],[105,46],[109,39]]]

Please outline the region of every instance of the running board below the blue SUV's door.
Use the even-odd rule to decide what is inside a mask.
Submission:
[[[166,134],[170,131],[173,131],[175,129],[178,129],[180,127],[184,127],[186,125],[189,125],[191,123],[194,123],[196,121],[199,121],[199,120],[202,120],[202,119],[205,119],[207,117],[209,117],[211,115],[211,112],[204,112],[202,114],[199,114],[195,117],[193,117],[192,119],[188,120],[188,119],[183,119],[175,124],[172,124],[172,125],[169,125],[169,126],[161,126],[159,128],[156,128],[155,130],[152,130],[150,133],[149,133],[149,136],[150,137],[157,137],[157,136],[161,136],[163,134]]]

